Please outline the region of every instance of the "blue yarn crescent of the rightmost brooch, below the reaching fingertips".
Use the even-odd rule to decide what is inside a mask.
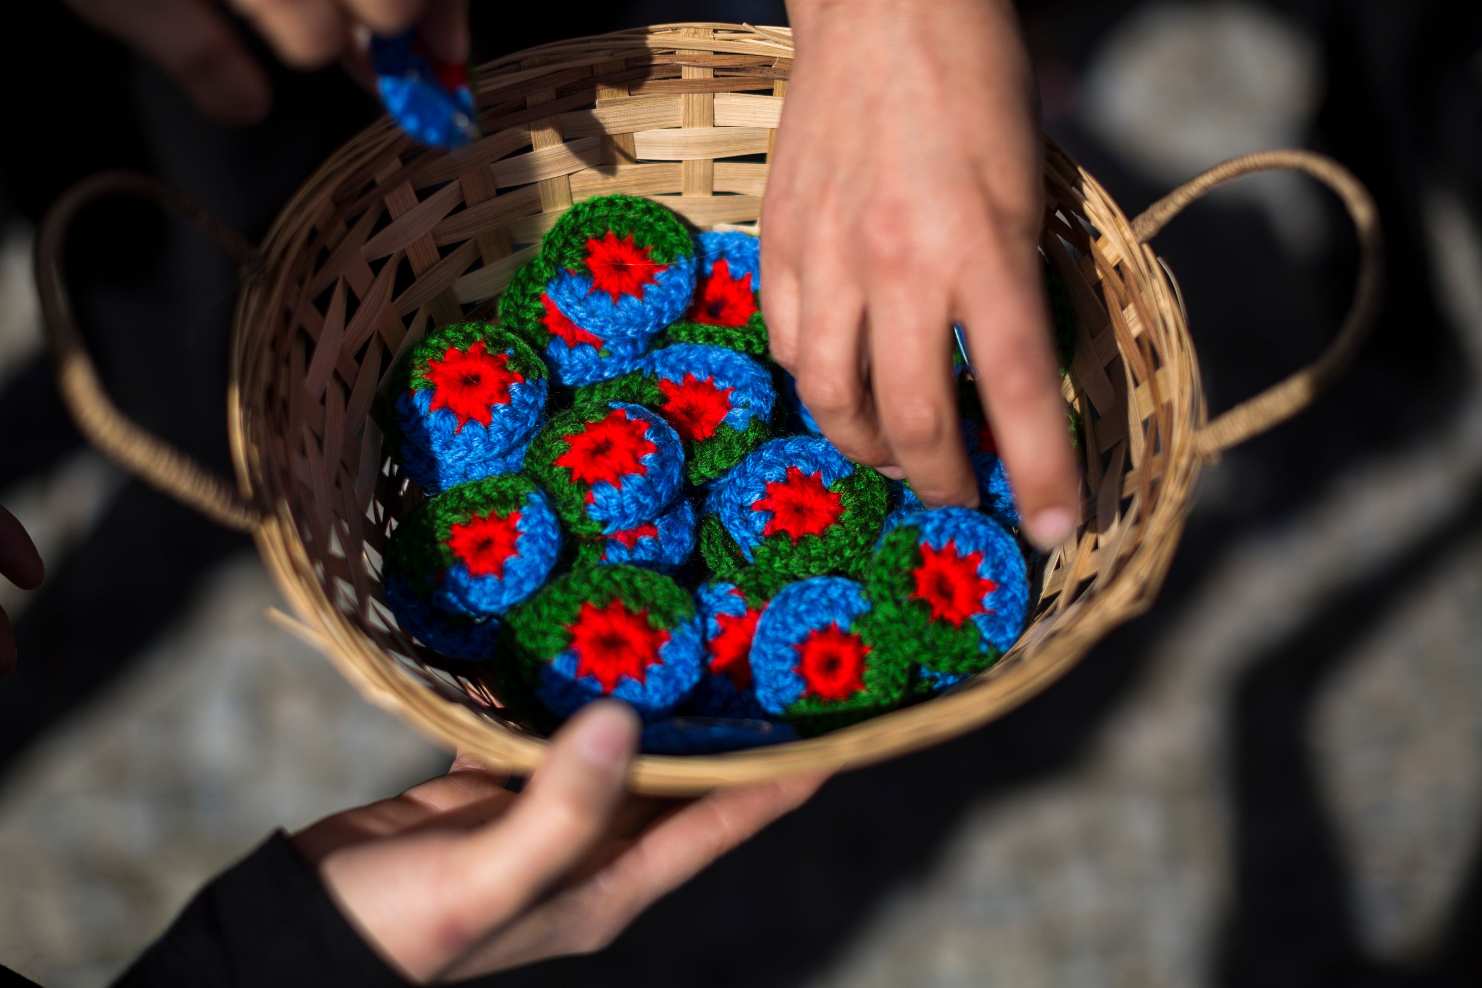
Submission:
[[[997,590],[983,597],[988,613],[974,615],[972,622],[984,638],[984,652],[988,644],[1008,652],[1029,610],[1029,572],[1014,536],[987,515],[966,508],[932,508],[911,518],[911,524],[919,527],[920,542],[934,550],[953,542],[962,555],[983,553],[978,576],[991,579]]]

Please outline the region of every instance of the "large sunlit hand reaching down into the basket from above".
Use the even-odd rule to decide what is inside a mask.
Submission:
[[[962,323],[1024,532],[1077,478],[1042,284],[1037,96],[1009,0],[788,0],[797,58],[762,203],[772,356],[851,459],[974,507]]]

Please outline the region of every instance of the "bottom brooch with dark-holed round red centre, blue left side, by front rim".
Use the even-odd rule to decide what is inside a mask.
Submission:
[[[860,584],[840,576],[814,576],[778,591],[751,640],[762,708],[800,726],[828,726],[898,705],[904,670],[882,662],[865,641],[860,622],[868,613]]]

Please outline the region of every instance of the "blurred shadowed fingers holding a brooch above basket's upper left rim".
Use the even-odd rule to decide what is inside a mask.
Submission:
[[[218,0],[64,0],[92,27],[159,65],[196,108],[221,123],[256,123],[273,92]],[[292,68],[341,59],[373,81],[368,34],[400,34],[416,24],[433,55],[468,58],[468,0],[230,0]],[[373,87],[373,86],[372,86]]]

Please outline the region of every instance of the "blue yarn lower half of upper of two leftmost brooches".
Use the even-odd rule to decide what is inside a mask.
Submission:
[[[468,419],[459,430],[451,409],[430,412],[433,388],[403,391],[396,398],[402,468],[427,493],[517,471],[525,444],[545,421],[547,393],[544,378],[513,384],[507,404],[489,406],[488,427]]]

